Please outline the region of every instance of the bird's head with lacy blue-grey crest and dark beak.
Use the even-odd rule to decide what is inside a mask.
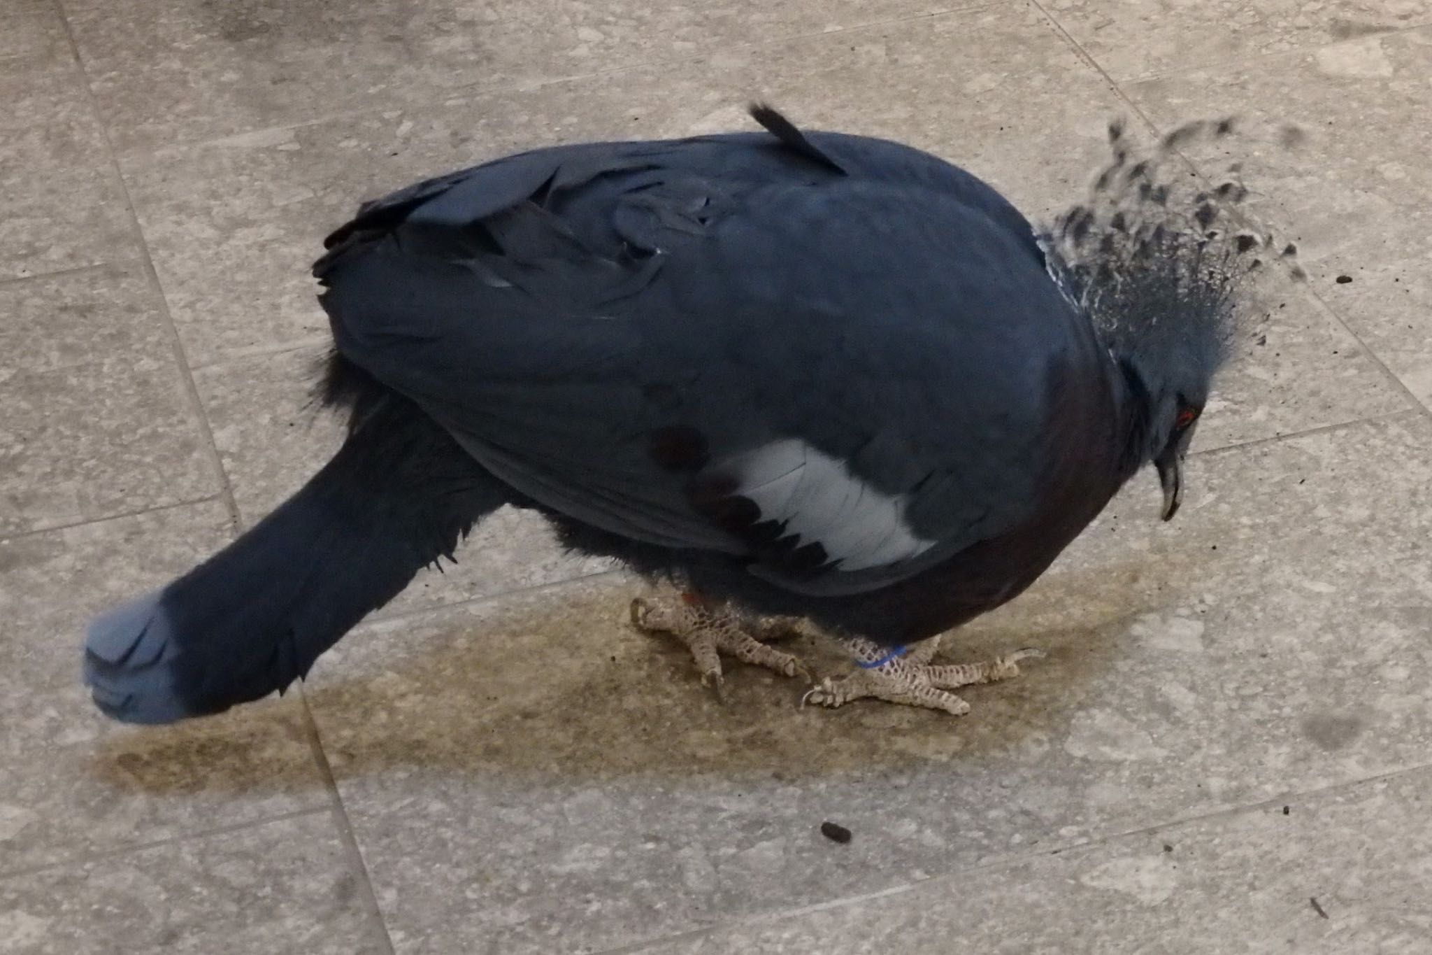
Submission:
[[[1279,251],[1270,235],[1243,228],[1247,216],[1236,208],[1247,189],[1237,166],[1229,182],[1206,188],[1174,155],[1232,129],[1232,120],[1191,123],[1140,157],[1123,126],[1111,125],[1114,160],[1090,200],[1040,236],[1050,275],[1123,371],[1126,471],[1154,464],[1164,520],[1183,500],[1183,458],[1249,311],[1250,279],[1266,261],[1303,275],[1292,245]]]

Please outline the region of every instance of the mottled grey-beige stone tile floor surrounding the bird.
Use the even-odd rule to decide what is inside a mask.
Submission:
[[[0,6],[0,952],[1432,952],[1432,3]],[[92,712],[84,619],[334,448],[306,265],[358,199],[756,94],[1034,215],[1111,115],[1249,117],[1310,282],[1183,515],[1137,481],[951,650],[1047,661],[961,720],[723,709],[504,513],[302,693]]]

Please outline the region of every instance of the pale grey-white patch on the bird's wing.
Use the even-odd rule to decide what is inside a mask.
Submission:
[[[735,494],[755,501],[762,520],[785,523],[800,544],[819,543],[841,570],[909,560],[938,543],[911,531],[905,498],[875,490],[805,441],[775,441],[726,465],[739,475]]]

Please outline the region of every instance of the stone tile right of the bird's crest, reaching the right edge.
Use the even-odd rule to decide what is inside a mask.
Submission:
[[[1432,130],[1408,120],[1426,107],[1429,72],[1432,29],[1423,29],[1128,93],[1160,123],[1210,109],[1247,116],[1247,175],[1266,196],[1262,215],[1299,239],[1312,289],[1432,407]],[[1307,132],[1303,145],[1277,146],[1270,133],[1285,122]],[[1224,159],[1193,157],[1213,169]]]

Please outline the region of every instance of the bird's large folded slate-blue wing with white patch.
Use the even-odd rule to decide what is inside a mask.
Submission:
[[[802,593],[908,577],[1028,515],[1087,329],[1027,235],[848,173],[879,165],[859,142],[885,146],[587,146],[417,186],[319,263],[338,346],[594,527]]]

